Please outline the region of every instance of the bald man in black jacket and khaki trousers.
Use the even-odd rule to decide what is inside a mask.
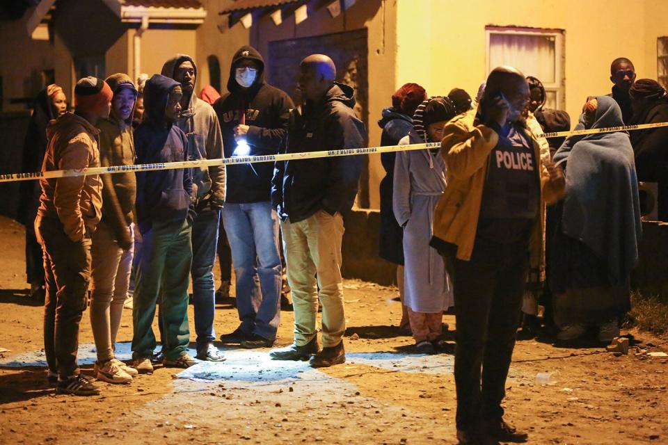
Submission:
[[[302,60],[298,83],[305,99],[303,115],[292,112],[285,152],[364,146],[364,124],[353,113],[353,89],[335,78],[328,56],[313,54]],[[287,281],[292,287],[294,343],[272,350],[273,359],[308,359],[315,354],[310,359],[314,367],[346,360],[342,213],[353,205],[360,170],[359,156],[276,163],[271,200],[281,220]],[[321,351],[315,328],[318,300],[322,304]]]

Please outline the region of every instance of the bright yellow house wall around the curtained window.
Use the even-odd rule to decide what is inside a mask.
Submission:
[[[397,86],[421,83],[430,95],[454,87],[475,95],[488,74],[486,25],[566,30],[566,111],[572,122],[587,95],[610,92],[614,58],[628,57],[639,77],[655,78],[656,35],[668,34],[665,0],[397,1]]]

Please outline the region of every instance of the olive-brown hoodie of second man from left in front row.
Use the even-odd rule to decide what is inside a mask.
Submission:
[[[113,94],[123,88],[135,92],[134,83],[127,74],[113,74],[106,78],[106,83]],[[100,129],[100,165],[132,165],[134,164],[134,139],[132,137],[132,115],[127,121],[118,120],[113,111],[108,119],[97,122]],[[102,175],[102,221],[109,225],[114,238],[123,249],[132,243],[127,226],[134,222],[134,202],[137,183],[134,172],[120,172],[113,175]]]

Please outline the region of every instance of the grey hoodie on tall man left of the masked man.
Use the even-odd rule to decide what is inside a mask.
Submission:
[[[193,64],[197,79],[195,60],[186,54],[177,54],[167,60],[161,74],[174,79],[177,68],[186,60]],[[218,117],[211,105],[198,99],[194,90],[188,107],[181,111],[176,124],[189,140],[193,159],[223,158],[223,138]],[[214,206],[222,207],[225,202],[225,165],[193,168],[193,189],[198,200],[208,199]]]

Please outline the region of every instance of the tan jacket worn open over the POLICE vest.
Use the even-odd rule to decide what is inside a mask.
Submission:
[[[441,154],[447,163],[447,187],[434,213],[434,236],[457,246],[456,258],[469,261],[475,243],[482,192],[487,175],[489,154],[499,136],[493,129],[476,119],[476,110],[451,120],[443,131]],[[532,138],[536,159],[541,159],[541,147],[534,133]],[[541,201],[551,204],[564,195],[564,187],[549,181],[541,163]],[[531,236],[531,266],[539,267],[543,258],[543,211],[536,218]]]

